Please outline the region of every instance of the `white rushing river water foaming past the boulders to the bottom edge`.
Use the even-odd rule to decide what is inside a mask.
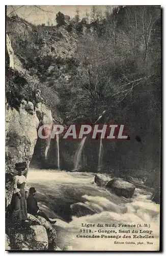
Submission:
[[[150,200],[151,193],[147,189],[135,189],[132,199],[118,197],[105,188],[94,183],[92,173],[70,173],[57,170],[29,170],[27,186],[37,190],[36,198],[39,206],[50,218],[57,218],[57,244],[60,248],[70,246],[71,250],[157,250],[159,248],[159,205]],[[74,208],[75,211],[72,211]],[[87,209],[87,213],[85,213]],[[77,210],[77,212],[76,212]],[[69,222],[70,221],[70,222]],[[138,230],[139,227],[118,227],[118,224],[150,224],[154,239],[112,239],[112,238],[78,238],[78,235],[105,235],[105,230],[119,229]],[[91,233],[80,229],[82,224],[95,224]],[[103,227],[97,227],[97,224]],[[115,224],[116,227],[105,227]],[[99,230],[103,230],[100,233]],[[133,233],[123,233],[132,236]],[[144,234],[143,234],[144,235]],[[115,244],[114,241],[124,242]],[[135,241],[135,244],[125,244]],[[137,242],[144,244],[138,244]],[[147,241],[153,245],[147,244]],[[123,247],[122,247],[123,246]]]

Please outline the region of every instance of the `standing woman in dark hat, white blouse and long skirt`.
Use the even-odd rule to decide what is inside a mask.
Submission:
[[[16,224],[27,220],[26,199],[28,190],[26,188],[26,177],[23,175],[27,165],[26,162],[16,163],[15,169],[18,175],[14,176],[13,195],[10,204],[10,216]]]

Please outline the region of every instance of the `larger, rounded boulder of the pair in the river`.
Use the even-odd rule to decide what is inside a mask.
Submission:
[[[114,178],[108,181],[106,188],[112,190],[117,196],[130,198],[134,194],[135,186],[122,178]]]

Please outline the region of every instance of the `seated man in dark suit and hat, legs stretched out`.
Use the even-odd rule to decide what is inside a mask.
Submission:
[[[49,219],[44,214],[44,212],[39,208],[38,202],[37,202],[36,198],[34,197],[35,192],[36,192],[35,187],[30,187],[30,194],[29,194],[29,197],[27,198],[27,212],[34,216],[41,216],[51,224],[56,223],[57,222],[56,220]]]

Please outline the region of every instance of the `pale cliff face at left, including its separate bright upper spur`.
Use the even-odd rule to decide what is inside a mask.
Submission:
[[[24,71],[21,64],[18,65],[18,61],[15,62],[13,60],[16,60],[16,58],[14,58],[11,42],[7,36],[6,64],[8,68],[14,71],[18,71],[18,67],[19,72]],[[26,162],[28,170],[38,139],[37,130],[39,126],[47,124],[48,129],[44,132],[45,134],[50,133],[53,121],[51,111],[42,102],[36,103],[21,99],[17,108],[13,108],[8,100],[6,102],[6,191],[8,196],[7,203],[9,204],[12,196],[13,177],[17,175],[15,163]],[[47,141],[43,140],[39,154],[45,157],[46,149]]]

